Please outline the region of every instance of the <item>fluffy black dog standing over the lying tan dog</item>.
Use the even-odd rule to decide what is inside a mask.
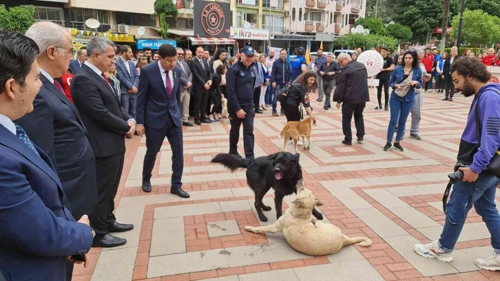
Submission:
[[[271,207],[264,205],[262,198],[273,187],[276,218],[280,218],[283,197],[293,193],[297,194],[297,183],[302,178],[302,167],[300,167],[299,158],[300,154],[291,154],[289,152],[279,152],[258,157],[255,160],[221,153],[217,154],[210,162],[220,163],[231,169],[231,171],[247,168],[247,183],[256,194],[255,206],[257,213],[260,220],[267,222],[262,210],[271,211]],[[317,209],[313,209],[313,216],[320,220],[323,219],[322,214]]]

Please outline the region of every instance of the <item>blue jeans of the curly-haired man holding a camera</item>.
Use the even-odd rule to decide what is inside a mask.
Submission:
[[[480,174],[476,183],[459,182],[453,186],[450,200],[446,204],[444,229],[439,238],[441,247],[446,250],[455,248],[467,214],[474,205],[490,231],[493,249],[500,249],[500,215],[494,203],[499,183],[500,179],[496,176]]]

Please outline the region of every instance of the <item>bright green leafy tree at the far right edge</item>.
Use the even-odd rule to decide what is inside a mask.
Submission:
[[[481,10],[465,10],[463,12],[463,25],[461,41],[468,45],[492,44],[500,38],[500,22],[498,17],[490,16]],[[457,37],[459,16],[452,20],[451,36]]]

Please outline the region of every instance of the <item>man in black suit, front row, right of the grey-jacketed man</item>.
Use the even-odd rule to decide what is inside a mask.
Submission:
[[[208,90],[212,85],[212,74],[207,60],[203,58],[203,47],[196,48],[196,58],[194,58],[189,67],[193,72],[193,110],[194,123],[211,123],[207,118]]]

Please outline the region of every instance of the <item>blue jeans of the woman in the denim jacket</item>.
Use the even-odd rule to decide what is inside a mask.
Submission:
[[[397,124],[396,143],[399,143],[399,141],[401,141],[401,138],[403,137],[404,134],[406,119],[408,119],[408,114],[410,114],[410,110],[413,107],[414,103],[415,99],[413,101],[404,101],[404,100],[399,101],[399,99],[392,97],[389,99],[390,121],[389,121],[389,127],[387,129],[388,143],[393,142],[393,136],[396,124]]]

